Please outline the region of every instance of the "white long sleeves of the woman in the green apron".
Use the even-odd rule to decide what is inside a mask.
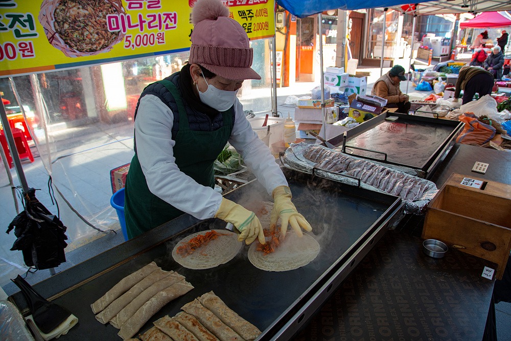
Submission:
[[[229,138],[243,157],[247,167],[271,195],[278,186],[288,186],[286,177],[275,163],[270,150],[258,138],[245,117],[243,106],[236,99],[235,123]],[[179,170],[175,163],[172,140],[174,114],[154,95],[140,100],[135,120],[135,141],[138,161],[151,193],[175,208],[198,219],[215,216],[222,195],[202,186]]]

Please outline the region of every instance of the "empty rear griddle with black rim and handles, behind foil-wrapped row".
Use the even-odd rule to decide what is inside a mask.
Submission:
[[[385,120],[389,116],[397,121]],[[454,145],[463,122],[386,112],[328,142],[343,152],[416,171],[430,178]]]

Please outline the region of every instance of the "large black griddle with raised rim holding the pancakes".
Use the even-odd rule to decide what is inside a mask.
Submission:
[[[182,215],[34,286],[44,297],[51,297],[78,317],[78,325],[61,339],[120,339],[117,329],[95,319],[90,304],[151,261],[164,270],[179,272],[195,288],[157,312],[139,333],[152,327],[152,322],[160,317],[173,316],[184,304],[213,290],[227,306],[263,331],[258,339],[292,337],[401,216],[403,203],[396,196],[295,170],[284,168],[283,171],[293,193],[293,203],[313,226],[321,246],[313,262],[291,271],[263,271],[249,262],[248,246],[244,246],[237,257],[218,267],[183,268],[171,256],[174,245],[192,233],[221,229],[225,222],[198,221]],[[255,180],[226,197],[242,204],[270,200]],[[10,300],[28,313],[20,292]]]

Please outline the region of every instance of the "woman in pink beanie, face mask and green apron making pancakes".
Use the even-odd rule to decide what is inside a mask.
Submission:
[[[148,85],[135,109],[135,155],[125,186],[128,238],[188,213],[230,222],[240,241],[264,244],[258,217],[214,190],[213,165],[227,143],[273,196],[270,229],[280,219],[283,237],[288,225],[303,236],[301,229],[312,231],[311,225],[291,202],[286,177],[236,97],[244,80],[261,79],[250,67],[247,34],[220,0],[195,2],[192,23],[188,63]]]

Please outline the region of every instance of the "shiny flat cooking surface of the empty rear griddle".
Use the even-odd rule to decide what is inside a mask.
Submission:
[[[387,153],[387,160],[390,162],[422,168],[452,131],[451,126],[404,118],[399,118],[395,122],[382,121],[370,130],[346,141],[346,151],[381,158],[381,155],[376,153],[347,147],[376,150]]]

